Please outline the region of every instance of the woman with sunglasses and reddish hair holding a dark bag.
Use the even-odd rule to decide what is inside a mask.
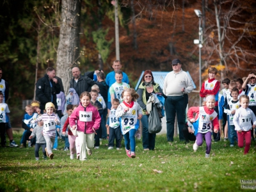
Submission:
[[[143,116],[141,118],[141,123],[143,125],[142,131],[142,145],[144,150],[154,150],[156,134],[148,132],[148,116],[147,112],[147,100],[152,93],[157,93],[160,95],[163,94],[163,90],[158,83],[154,82],[154,77],[151,70],[145,70],[142,82],[137,90],[138,95],[140,96],[137,100],[140,104],[141,109],[143,110]]]

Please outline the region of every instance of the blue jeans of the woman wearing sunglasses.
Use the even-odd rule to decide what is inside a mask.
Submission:
[[[156,141],[156,133],[148,132],[148,115],[143,115],[141,118],[142,123],[142,145],[143,148],[149,148],[150,150],[154,150],[155,141]]]

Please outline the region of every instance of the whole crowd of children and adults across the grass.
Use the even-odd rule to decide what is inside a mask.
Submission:
[[[25,108],[20,148],[27,147],[28,142],[28,147],[35,147],[36,160],[39,160],[40,147],[44,159],[53,159],[54,150],[58,150],[58,138],[62,138],[64,150],[70,151],[70,159],[76,156],[85,161],[93,149],[100,148],[100,140],[108,140],[108,150],[114,147],[120,150],[124,138],[125,153],[134,158],[135,135],[140,122],[143,150],[155,149],[156,133],[148,128],[152,126],[149,124],[152,109],[158,106],[159,118],[165,110],[168,142],[173,142],[177,116],[179,140],[195,141],[195,151],[205,140],[205,157],[210,156],[212,136],[214,141],[220,141],[221,127],[224,141],[229,140],[230,147],[235,143],[244,147],[245,143],[244,154],[248,154],[256,127],[256,73],[251,72],[244,79],[223,79],[224,88],[220,90],[221,83],[215,79],[218,70],[210,67],[209,78],[200,90],[200,97],[204,98],[202,107],[189,108],[186,119],[188,93],[194,87],[181,66],[179,59],[172,61],[173,70],[166,75],[163,88],[154,80],[152,71],[145,70],[137,92],[130,88],[129,77],[122,72],[118,60],[113,61],[113,71],[107,76],[100,70],[81,75],[79,68],[74,67],[67,97],[56,70],[47,68],[45,76],[36,82],[36,100]],[[9,87],[1,78],[2,73],[0,68],[1,146],[5,147],[7,134],[10,147],[17,147],[6,104]]]

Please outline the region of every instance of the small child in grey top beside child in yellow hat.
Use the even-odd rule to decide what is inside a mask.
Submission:
[[[31,136],[29,136],[29,140],[36,137],[36,145],[35,145],[35,157],[36,161],[39,160],[39,149],[42,147],[42,152],[44,154],[44,159],[47,159],[45,148],[46,148],[46,141],[44,139],[44,136],[42,134],[44,129],[44,122],[40,121],[38,122],[38,125],[33,129]]]

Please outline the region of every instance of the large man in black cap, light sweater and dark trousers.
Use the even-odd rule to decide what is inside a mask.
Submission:
[[[188,93],[194,87],[192,79],[181,68],[179,59],[172,60],[173,71],[168,73],[164,79],[163,93],[166,95],[164,109],[166,111],[167,141],[173,141],[175,115],[177,115],[179,126],[179,139],[184,141],[182,129],[185,125],[185,111],[188,105]]]

